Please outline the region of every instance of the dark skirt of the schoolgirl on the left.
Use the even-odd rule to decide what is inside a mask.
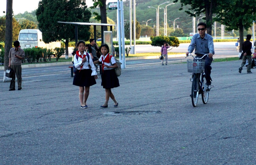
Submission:
[[[91,69],[82,69],[77,70],[74,80],[73,80],[73,85],[76,86],[92,86],[96,84],[96,80],[94,76],[91,76],[92,70]]]

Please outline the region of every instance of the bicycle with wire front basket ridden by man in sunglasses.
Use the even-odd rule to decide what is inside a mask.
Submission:
[[[204,73],[205,60],[202,60],[202,58],[204,58],[204,56],[207,56],[207,55],[208,54],[205,54],[202,57],[197,57],[195,55],[192,55],[191,53],[188,54],[188,56],[192,56],[194,58],[193,60],[187,60],[187,71],[192,72],[190,81],[192,82],[191,100],[192,100],[193,107],[197,106],[199,94],[202,95],[202,101],[204,104],[206,104],[209,99],[209,92],[211,88],[214,87],[211,85],[206,85],[206,79],[205,79],[205,73]],[[202,77],[200,81],[201,73],[202,73]]]

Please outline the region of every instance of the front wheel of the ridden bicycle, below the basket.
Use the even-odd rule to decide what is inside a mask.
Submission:
[[[199,95],[199,76],[200,74],[194,74],[191,88],[191,100],[193,107],[197,106]]]

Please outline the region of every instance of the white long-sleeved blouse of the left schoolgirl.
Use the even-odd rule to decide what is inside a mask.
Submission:
[[[80,51],[79,51],[79,55],[81,55]],[[80,69],[89,69],[88,58],[86,56],[86,51],[84,51],[84,55],[85,55],[85,58],[86,58],[86,62],[84,62],[82,68],[80,67],[80,64],[82,64],[82,58],[78,56],[78,59],[76,59],[76,54],[74,55],[74,65],[75,65],[75,68],[77,68],[78,70],[80,70]],[[91,57],[90,54],[89,54],[89,64],[91,66],[92,76],[97,75],[97,72],[95,70],[95,66],[94,66],[94,64],[92,62],[92,57]]]

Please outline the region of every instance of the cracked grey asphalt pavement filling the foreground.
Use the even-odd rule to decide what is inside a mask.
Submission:
[[[195,108],[186,64],[127,67],[118,108],[99,108],[99,78],[81,109],[62,69],[23,77],[20,91],[0,82],[0,164],[255,164],[256,69],[240,62],[212,63],[216,86]]]

